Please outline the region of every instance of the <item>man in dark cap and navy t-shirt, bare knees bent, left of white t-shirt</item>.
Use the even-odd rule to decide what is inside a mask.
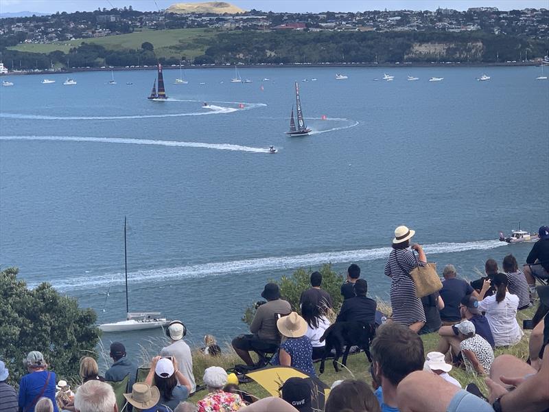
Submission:
[[[491,347],[495,347],[488,319],[478,310],[478,300],[475,297],[469,295],[463,299],[460,304],[460,313],[464,319],[471,321],[475,325],[476,334],[482,336]],[[461,341],[458,335],[459,330],[455,325],[443,326],[439,330],[440,339],[437,350],[438,352],[447,354],[449,349],[452,348],[452,352],[447,356],[449,361],[452,361],[452,358],[455,358],[460,353]]]

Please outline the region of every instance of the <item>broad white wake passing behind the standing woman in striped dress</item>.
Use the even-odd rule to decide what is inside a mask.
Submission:
[[[469,250],[488,250],[507,245],[499,240],[480,240],[463,243],[434,243],[423,245],[428,255],[436,253],[454,253]],[[308,267],[326,262],[365,262],[369,260],[386,259],[391,251],[390,247],[375,249],[356,249],[350,251],[306,253],[293,256],[273,256],[270,258],[256,258],[233,260],[229,262],[209,262],[192,264],[175,268],[159,268],[143,271],[134,271],[129,274],[132,284],[150,282],[157,279],[183,279],[191,277],[205,277],[211,275],[227,275],[231,273],[250,273],[272,271],[279,269],[293,269]],[[113,281],[113,279],[119,279]],[[108,273],[105,275],[82,275],[81,278],[63,279],[53,284],[59,290],[80,290],[86,287],[102,287],[112,283],[124,282],[122,273]],[[36,286],[36,285],[32,285]]]

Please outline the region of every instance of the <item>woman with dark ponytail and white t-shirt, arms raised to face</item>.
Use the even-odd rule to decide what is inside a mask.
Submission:
[[[484,281],[480,290],[479,299],[482,300],[478,302],[478,309],[485,312],[496,347],[515,345],[524,334],[517,322],[519,298],[507,290],[509,281],[505,273],[496,274],[493,282],[496,289],[495,295],[484,297],[491,287],[489,280]]]

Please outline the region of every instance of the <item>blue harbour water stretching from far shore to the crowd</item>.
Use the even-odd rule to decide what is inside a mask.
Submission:
[[[384,71],[395,81],[373,81]],[[242,69],[253,82],[233,84],[233,69],[194,69],[174,85],[179,71],[165,70],[167,102],[145,99],[154,71],[117,71],[117,85],[75,73],[74,87],[12,77],[0,88],[1,266],[78,297],[101,322],[121,319],[128,216],[130,310],[182,319],[198,342],[246,330],[244,306],[300,266],[357,262],[386,297],[385,248],[403,223],[430,260],[467,277],[487,258],[524,262],[530,245],[494,239],[549,222],[539,67],[343,72]],[[477,82],[483,72],[491,80]],[[294,80],[309,137],[284,134]],[[105,339],[132,347],[151,334]]]

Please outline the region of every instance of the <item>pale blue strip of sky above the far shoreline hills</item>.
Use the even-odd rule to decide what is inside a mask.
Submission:
[[[180,1],[196,3],[198,0]],[[0,0],[0,13],[42,12],[55,13],[91,11],[97,8],[123,8],[132,5],[135,10],[153,11],[168,8],[177,0]],[[257,9],[273,12],[358,12],[364,10],[436,10],[490,6],[500,10],[548,8],[549,0],[233,0],[244,10]]]

